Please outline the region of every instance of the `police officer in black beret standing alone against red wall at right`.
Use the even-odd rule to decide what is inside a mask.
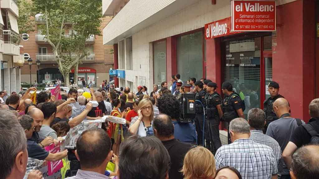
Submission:
[[[268,84],[268,92],[270,94],[270,97],[263,102],[263,111],[265,111],[265,113],[266,113],[266,124],[263,128],[263,133],[266,133],[268,125],[272,121],[278,119],[275,112],[272,111],[272,104],[274,104],[276,99],[281,98],[281,97],[284,98],[283,96],[278,94],[279,93],[279,84],[277,82],[270,82]]]

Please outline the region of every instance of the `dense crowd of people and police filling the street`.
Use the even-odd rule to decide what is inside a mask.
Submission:
[[[106,83],[105,83],[106,84]],[[75,155],[81,164],[70,179],[110,176],[120,179],[310,179],[319,175],[319,99],[309,104],[308,124],[291,116],[288,100],[279,95],[279,84],[270,82],[271,97],[264,109],[245,111],[245,101],[231,82],[173,75],[167,82],[145,86],[72,88],[62,99],[47,92],[30,99],[0,92],[0,178],[19,179],[26,172],[27,158],[58,161],[67,150],[50,153],[44,147],[63,141],[71,128],[83,120],[105,115],[125,118],[125,124],[102,123],[84,131],[76,142]],[[150,95],[149,95],[150,94]],[[183,94],[195,94],[196,115],[181,122]],[[8,103],[6,103],[8,101]],[[96,101],[96,107],[89,101]],[[219,137],[220,121],[228,123],[228,144]],[[106,172],[109,162],[115,170]],[[33,170],[29,179],[40,179]]]

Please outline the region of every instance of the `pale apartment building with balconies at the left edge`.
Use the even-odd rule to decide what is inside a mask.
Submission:
[[[19,29],[17,17],[19,9],[17,0],[0,1],[0,90],[7,90],[8,93],[13,91],[19,92],[20,85],[20,68],[23,66],[23,47],[19,46]]]

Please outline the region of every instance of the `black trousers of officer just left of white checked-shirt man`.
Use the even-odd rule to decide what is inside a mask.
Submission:
[[[206,124],[208,125],[208,134],[211,141],[211,152],[215,155],[217,149],[221,147],[220,137],[219,137],[219,124],[215,119],[206,119]]]

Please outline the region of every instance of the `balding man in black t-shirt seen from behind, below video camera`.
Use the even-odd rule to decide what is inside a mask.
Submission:
[[[162,141],[171,158],[172,163],[168,176],[174,179],[183,179],[180,169],[183,167],[184,156],[191,148],[191,144],[174,138],[174,125],[171,117],[166,114],[155,117],[152,127],[154,135]]]

